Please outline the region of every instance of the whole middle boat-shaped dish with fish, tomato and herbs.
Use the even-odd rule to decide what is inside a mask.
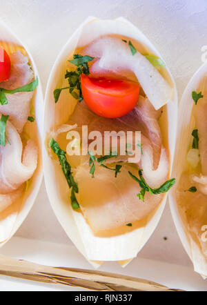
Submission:
[[[61,226],[94,266],[126,265],[155,230],[175,183],[177,92],[159,52],[126,19],[88,18],[52,68],[44,121],[46,189]],[[111,147],[93,154],[91,146],[86,155],[70,155],[68,143],[78,150],[81,141],[83,150],[72,133],[83,125],[101,144],[104,130],[141,131],[139,165],[128,163],[127,144],[128,156]]]

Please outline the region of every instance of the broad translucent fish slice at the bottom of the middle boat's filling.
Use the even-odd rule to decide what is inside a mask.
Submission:
[[[137,169],[130,165],[123,166],[117,178],[114,172],[101,166],[96,167],[95,178],[91,177],[87,164],[77,168],[77,198],[92,230],[110,230],[143,219],[161,201],[163,195],[150,193],[146,193],[145,201],[139,200],[139,184],[130,177],[128,170],[137,175]]]

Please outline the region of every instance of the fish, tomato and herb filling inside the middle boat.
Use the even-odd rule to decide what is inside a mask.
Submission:
[[[68,201],[95,233],[133,226],[152,213],[175,184],[168,179],[168,149],[159,126],[173,90],[155,68],[155,62],[159,67],[164,63],[150,58],[154,61],[130,40],[101,37],[75,50],[65,75],[68,86],[54,91],[55,103],[62,90],[77,99],[50,148],[68,181]]]

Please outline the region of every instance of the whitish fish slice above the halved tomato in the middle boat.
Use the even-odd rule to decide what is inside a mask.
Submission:
[[[138,51],[133,56],[128,43],[121,39],[102,37],[83,49],[84,55],[99,59],[99,67],[119,73],[122,70],[134,72],[151,104],[156,110],[168,103],[172,88],[157,69]]]

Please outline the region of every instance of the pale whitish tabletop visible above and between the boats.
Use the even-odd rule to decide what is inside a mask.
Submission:
[[[28,46],[39,69],[43,92],[59,51],[89,15],[104,19],[122,16],[134,23],[161,52],[181,97],[190,77],[201,66],[201,47],[207,46],[206,0],[0,0],[0,18]],[[44,185],[16,236],[71,244],[50,208]],[[168,204],[138,257],[193,268]]]

